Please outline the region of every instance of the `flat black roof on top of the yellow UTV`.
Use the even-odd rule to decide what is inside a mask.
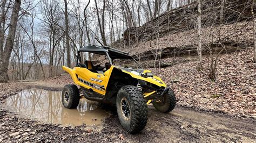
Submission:
[[[97,46],[97,45],[89,45],[83,48],[80,48],[78,52],[90,52],[95,54],[104,55],[106,52],[109,53],[110,58],[113,59],[133,59],[129,53],[120,51],[118,49],[114,49],[107,46]]]

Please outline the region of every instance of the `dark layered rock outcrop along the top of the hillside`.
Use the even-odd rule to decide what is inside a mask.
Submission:
[[[166,34],[194,29],[197,26],[197,9],[197,2],[193,2],[163,13],[140,27],[128,28],[123,33],[124,38],[116,41],[114,46],[138,44],[141,41],[164,37]],[[220,14],[221,3],[218,1],[204,1],[201,10],[202,27],[220,25],[220,19],[223,24],[251,19],[251,3],[247,1],[226,1],[223,6],[223,15]]]

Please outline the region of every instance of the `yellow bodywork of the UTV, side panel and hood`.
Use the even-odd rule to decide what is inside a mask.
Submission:
[[[110,69],[106,70],[104,74],[99,73],[93,73],[87,68],[81,68],[81,67],[75,67],[73,69],[62,66],[63,70],[67,71],[73,81],[86,89],[92,89],[95,92],[98,92],[99,94],[105,95],[107,88],[107,84],[109,83],[109,78],[111,76],[113,68],[118,68],[116,66],[111,66]],[[161,80],[158,76],[153,77],[142,77],[133,73],[130,73],[129,71],[125,71],[121,69],[124,73],[131,75],[133,78],[137,78],[138,80],[143,80],[150,82],[152,84],[158,85],[159,87],[166,87],[166,84]],[[150,70],[144,70],[144,73],[150,73]],[[154,78],[156,80],[154,80]],[[158,81],[161,83],[159,83]]]

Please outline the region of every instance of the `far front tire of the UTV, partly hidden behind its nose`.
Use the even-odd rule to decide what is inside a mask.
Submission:
[[[163,96],[164,103],[160,102],[153,102],[154,108],[156,108],[158,111],[167,113],[174,109],[176,105],[176,96],[172,89],[169,89],[167,94]]]

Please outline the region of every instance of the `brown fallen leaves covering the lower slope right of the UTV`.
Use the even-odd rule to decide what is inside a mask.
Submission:
[[[173,67],[151,70],[172,87],[181,106],[256,117],[256,66],[246,63],[252,57],[252,48],[221,55],[216,73],[217,82],[211,82],[196,69],[196,57]],[[170,61],[174,59],[168,58]],[[206,69],[207,59],[204,58],[203,62]],[[173,78],[181,80],[173,82]]]

